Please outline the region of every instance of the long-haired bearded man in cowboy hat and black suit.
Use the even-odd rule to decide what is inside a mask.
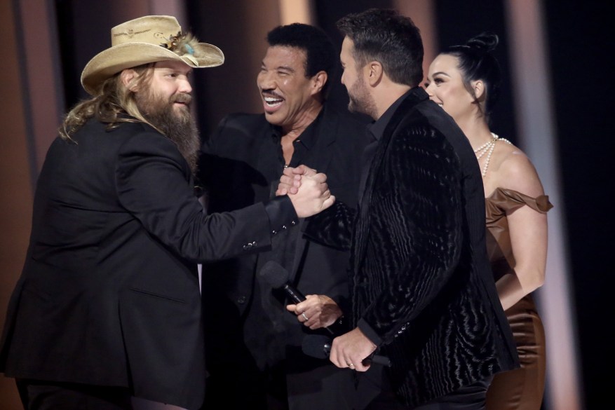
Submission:
[[[133,409],[140,399],[198,409],[197,264],[268,250],[275,232],[334,197],[320,174],[297,196],[205,212],[188,78],[222,64],[222,51],[169,16],[116,26],[111,43],[83,70],[92,97],[67,114],[41,170],[0,371],[17,379],[26,409]]]

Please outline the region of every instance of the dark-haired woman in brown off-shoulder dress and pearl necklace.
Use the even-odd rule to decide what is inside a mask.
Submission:
[[[545,335],[532,292],[544,282],[546,212],[553,205],[525,153],[489,130],[500,83],[491,53],[497,43],[495,34],[483,33],[442,51],[429,67],[425,89],[454,118],[476,153],[485,187],[489,258],[521,362],[519,369],[495,376],[487,410],[539,410]]]

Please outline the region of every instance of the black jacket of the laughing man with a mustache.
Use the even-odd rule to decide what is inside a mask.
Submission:
[[[360,158],[367,141],[365,123],[327,104],[320,116],[314,130],[316,141],[302,163],[325,172],[337,200],[356,203]],[[283,163],[271,160],[282,155],[280,142],[272,134],[264,114],[232,114],[221,121],[203,145],[200,165],[208,181],[205,191],[211,210],[233,210],[275,195]],[[297,232],[278,233],[273,241],[288,241],[289,235],[296,236],[295,245],[284,254],[264,252],[204,267],[203,300],[211,305],[208,311],[216,312],[208,318],[208,334],[214,339],[211,344],[217,343],[220,349],[209,361],[212,374],[214,367],[221,371],[229,367],[221,357],[238,354],[227,350],[238,339],[245,343],[240,348],[249,350],[243,361],[265,369],[283,360],[288,346],[301,346],[303,336],[310,332],[285,310],[285,304],[291,303],[285,295],[272,292],[271,285],[259,280],[263,261],[281,261],[290,282],[303,294],[326,294],[347,307],[349,253],[309,243]],[[220,353],[225,351],[227,355]]]

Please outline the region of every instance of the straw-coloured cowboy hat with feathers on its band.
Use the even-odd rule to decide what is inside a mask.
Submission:
[[[111,48],[93,57],[81,73],[81,85],[90,95],[123,69],[150,62],[175,60],[194,68],[215,67],[224,62],[222,50],[208,43],[189,41],[177,19],[147,15],[111,29]]]

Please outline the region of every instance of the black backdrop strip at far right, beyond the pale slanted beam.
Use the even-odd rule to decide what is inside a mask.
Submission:
[[[611,385],[615,365],[612,14],[595,1],[545,6],[585,407],[601,409],[611,392],[600,381]]]

